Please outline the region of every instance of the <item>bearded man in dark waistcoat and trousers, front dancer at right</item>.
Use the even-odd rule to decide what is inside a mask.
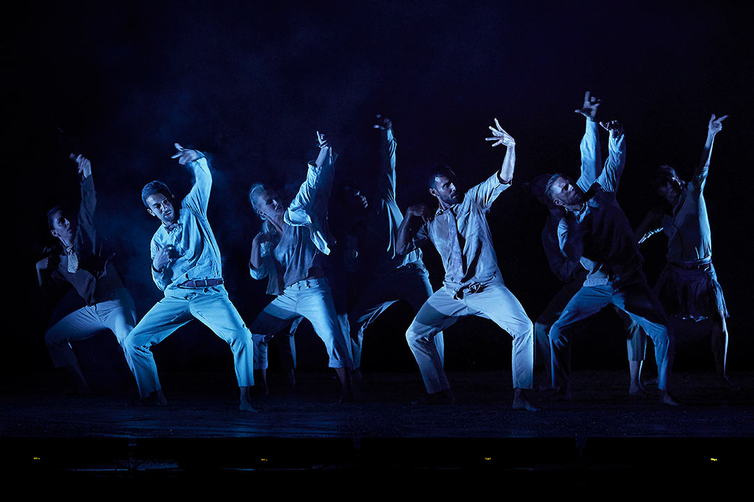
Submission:
[[[558,225],[562,253],[581,261],[589,271],[583,287],[572,297],[558,321],[550,328],[553,387],[571,399],[571,352],[569,337],[579,321],[592,317],[610,304],[627,312],[654,341],[660,399],[676,406],[667,393],[673,363],[673,333],[657,297],[642,272],[642,255],[626,215],[615,199],[626,162],[623,126],[618,121],[600,123],[610,132],[609,157],[594,184],[582,173],[578,182],[556,174],[545,193],[566,213]],[[588,126],[588,122],[587,122]]]

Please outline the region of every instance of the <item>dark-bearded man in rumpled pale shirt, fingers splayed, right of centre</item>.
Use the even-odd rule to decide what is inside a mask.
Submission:
[[[455,187],[455,173],[448,166],[435,166],[428,180],[429,192],[440,206],[434,218],[423,205],[414,205],[406,211],[406,219],[400,225],[396,243],[399,254],[431,241],[445,266],[443,288],[421,307],[406,332],[406,339],[424,379],[428,402],[453,403],[455,399],[434,337],[460,317],[479,315],[492,319],[513,336],[513,409],[535,411],[524,393],[524,389],[532,388],[532,321],[503,284],[486,221],[492,202],[510,187],[516,163],[516,142],[497,119],[495,126],[497,129],[489,128],[494,136],[487,139],[496,141],[493,147],[507,147],[501,168],[486,181],[460,193]]]

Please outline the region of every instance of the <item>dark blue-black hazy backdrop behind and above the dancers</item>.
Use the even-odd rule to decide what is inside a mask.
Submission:
[[[333,138],[337,169],[366,184],[376,165],[374,114],[394,122],[398,202],[427,199],[425,171],[453,166],[466,186],[497,169],[502,148],[484,138],[497,117],[516,138],[514,186],[489,214],[507,286],[532,317],[559,288],[540,243],[546,211],[524,181],[579,166],[584,90],[600,117],[627,131],[618,194],[633,225],[651,204],[646,181],[661,163],[689,178],[711,113],[729,114],[716,138],[706,202],[714,263],[731,312],[729,370],[752,368],[746,323],[752,294],[747,199],[752,182],[750,13],[719,3],[673,2],[60,2],[8,17],[5,106],[11,129],[6,172],[15,204],[7,242],[14,284],[5,312],[9,371],[51,367],[44,327],[55,303],[39,294],[34,263],[48,245],[45,212],[78,205],[70,151],[90,157],[100,233],[137,317],[161,298],[149,274],[158,227],[139,197],[161,179],[183,196],[191,175],[173,142],[206,151],[213,168],[209,218],[226,287],[250,323],[271,300],[247,260],[259,221],[247,202],[254,181],[295,187],[316,154],[314,132]],[[60,134],[60,130],[65,135]],[[605,136],[602,145],[606,148]],[[7,221],[7,220],[6,220]],[[642,247],[651,284],[666,241]],[[442,267],[425,252],[434,284]],[[368,333],[366,371],[415,370],[403,339],[407,305]],[[713,370],[701,324],[676,334],[676,368]],[[510,367],[510,339],[489,321],[459,322],[447,336],[447,367]],[[121,364],[112,336],[77,345],[82,365]],[[108,349],[112,349],[109,351]],[[161,370],[231,371],[222,340],[192,323],[155,347]],[[110,355],[107,355],[110,354]],[[651,357],[649,357],[651,359]],[[274,354],[271,364],[275,364]],[[299,367],[323,369],[323,345],[299,336]],[[124,365],[122,365],[124,367]],[[575,367],[625,366],[615,315],[605,312],[576,342]],[[121,367],[122,370],[122,367]],[[418,379],[418,374],[417,374]]]

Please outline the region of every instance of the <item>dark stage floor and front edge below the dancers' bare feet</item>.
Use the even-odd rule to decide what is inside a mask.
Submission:
[[[645,399],[630,397],[627,372],[577,371],[570,402],[532,392],[539,412],[510,409],[507,372],[449,373],[453,406],[412,403],[424,395],[418,373],[367,373],[358,402],[347,404],[336,403],[334,375],[299,373],[287,388],[271,373],[271,395],[256,397],[259,413],[238,411],[229,373],[162,375],[164,408],[129,406],[123,387],[57,395],[40,390],[49,375],[26,376],[0,399],[4,464],[129,475],[323,466],[562,472],[647,462],[733,472],[752,464],[754,373],[731,374],[737,391],[719,388],[711,373],[676,373],[682,406],[672,408],[655,386]]]

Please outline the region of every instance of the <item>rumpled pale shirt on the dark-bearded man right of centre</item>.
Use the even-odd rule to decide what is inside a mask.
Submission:
[[[507,187],[510,184],[503,184],[495,172],[470,188],[461,202],[437,209],[434,218],[416,233],[415,246],[429,240],[437,248],[445,266],[444,284],[453,291],[493,279],[502,281],[486,215]]]

